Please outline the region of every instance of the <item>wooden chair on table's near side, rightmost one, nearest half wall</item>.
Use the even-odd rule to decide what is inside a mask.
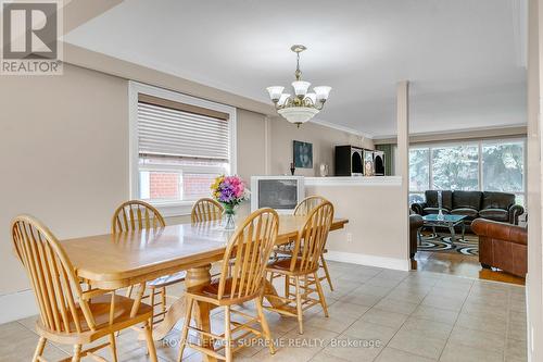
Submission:
[[[294,249],[290,258],[277,260],[267,267],[268,273],[279,274],[285,277],[286,295],[285,297],[268,297],[268,300],[276,299],[288,307],[295,307],[293,308],[295,312],[289,308],[266,308],[285,315],[298,317],[300,334],[303,334],[303,311],[306,309],[320,303],[325,315],[328,316],[326,299],[317,271],[332,221],[333,205],[329,201],[314,208],[307,215],[307,220],[294,241]],[[290,291],[291,286],[295,288],[294,294]],[[314,289],[313,286],[316,288]],[[318,299],[311,297],[315,292]]]

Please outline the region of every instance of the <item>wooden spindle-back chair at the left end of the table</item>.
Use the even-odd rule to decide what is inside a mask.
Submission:
[[[12,223],[15,252],[23,263],[39,307],[36,332],[40,336],[33,361],[42,357],[48,340],[73,345],[72,361],[88,355],[105,361],[94,352],[110,347],[117,361],[115,333],[143,324],[151,361],[156,351],[151,336],[152,308],[140,303],[132,311],[134,300],[99,289],[84,291],[64,249],[52,233],[28,215],[17,216]],[[83,349],[102,337],[109,341]]]

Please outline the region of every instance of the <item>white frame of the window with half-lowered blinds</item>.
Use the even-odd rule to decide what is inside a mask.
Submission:
[[[187,96],[184,93],[179,93],[176,91],[167,90],[164,88],[153,87],[149,85],[144,85],[141,83],[128,82],[128,137],[129,137],[129,190],[131,199],[139,199],[140,195],[140,185],[139,185],[139,142],[138,142],[138,95],[144,93],[157,98],[163,98],[167,100],[172,100],[175,102],[180,102],[185,104],[195,105],[200,108],[205,108],[213,111],[224,112],[228,114],[228,132],[229,132],[229,166],[230,174],[235,175],[237,173],[237,161],[238,161],[238,152],[237,152],[237,109],[230,105],[212,102],[209,100]],[[167,166],[161,165],[153,170],[157,168],[168,168],[169,171],[175,170],[185,170],[177,166]],[[187,166],[190,168],[191,166]],[[146,165],[142,167],[144,171],[149,171]],[[151,203],[159,209],[159,211],[166,217],[171,216],[182,216],[189,215],[192,205],[194,204],[194,200],[192,201],[181,201],[181,200],[173,200],[173,201],[151,201]]]

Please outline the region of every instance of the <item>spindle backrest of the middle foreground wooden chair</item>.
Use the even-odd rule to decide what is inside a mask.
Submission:
[[[226,247],[218,298],[244,298],[260,292],[264,273],[277,239],[279,216],[273,209],[258,209],[238,226]],[[228,273],[230,269],[230,273]],[[225,296],[227,283],[231,283]]]

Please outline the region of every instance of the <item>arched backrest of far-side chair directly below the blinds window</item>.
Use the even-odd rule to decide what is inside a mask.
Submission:
[[[111,222],[113,234],[164,227],[165,225],[164,217],[162,217],[159,210],[140,200],[122,203],[115,210]]]

